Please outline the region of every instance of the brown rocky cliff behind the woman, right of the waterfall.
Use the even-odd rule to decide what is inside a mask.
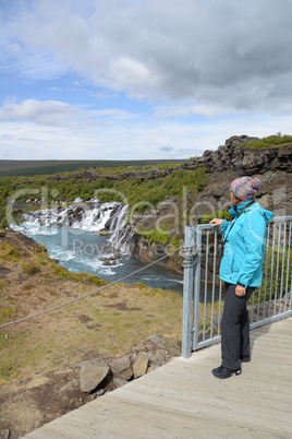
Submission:
[[[171,250],[170,240],[167,245],[151,241],[147,236],[141,236],[138,230],[161,226],[168,227],[171,235],[183,238],[184,225],[195,225],[202,222],[203,215],[230,207],[229,188],[233,179],[242,176],[258,177],[261,180],[261,191],[258,202],[277,216],[292,215],[292,146],[278,146],[265,150],[253,150],[248,143],[255,138],[247,135],[232,137],[226,145],[217,151],[206,151],[202,157],[186,162],[180,167],[195,169],[204,166],[209,174],[208,185],[194,197],[186,191],[181,197],[166,199],[155,211],[132,218],[132,226],[137,230],[132,238],[133,254],[144,260],[155,260]],[[171,173],[175,168],[168,169]],[[144,174],[146,178],[156,178],[156,174]],[[122,176],[120,176],[122,178]],[[124,178],[132,176],[124,175]],[[160,175],[161,178],[161,175]],[[167,258],[167,268],[181,270],[178,256]]]

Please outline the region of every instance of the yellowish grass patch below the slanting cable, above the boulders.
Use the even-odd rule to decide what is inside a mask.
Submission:
[[[25,379],[57,366],[72,366],[89,352],[98,351],[105,356],[122,355],[153,333],[179,340],[181,312],[178,309],[182,308],[179,295],[117,285],[118,297],[113,300],[110,297],[112,290],[0,330],[1,383]],[[137,308],[138,304],[138,309],[117,311],[121,300],[126,301],[129,309]],[[117,308],[107,307],[114,304]],[[149,319],[146,315],[155,317]],[[2,317],[7,321],[14,316],[15,309],[5,309],[1,321]],[[82,322],[82,316],[87,317],[86,323]]]

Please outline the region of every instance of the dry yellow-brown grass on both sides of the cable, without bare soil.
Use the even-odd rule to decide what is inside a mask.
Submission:
[[[10,259],[7,253],[12,254]],[[93,274],[68,272],[50,261],[40,246],[11,230],[1,237],[0,261],[5,270],[5,277],[0,280],[0,324],[107,285]],[[122,355],[154,333],[179,342],[181,319],[179,294],[149,288],[143,283],[110,286],[77,302],[1,329],[0,384],[63,370],[99,355]]]

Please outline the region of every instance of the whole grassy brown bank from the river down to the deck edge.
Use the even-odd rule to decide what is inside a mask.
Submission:
[[[68,272],[31,238],[0,232],[0,324],[106,284],[94,275]],[[12,438],[22,437],[90,401],[92,395],[80,389],[81,361],[109,361],[155,333],[165,340],[158,361],[180,355],[181,309],[179,295],[143,283],[117,284],[0,329],[0,431],[9,428]],[[142,343],[143,348],[147,344]],[[107,385],[112,390],[112,383]]]

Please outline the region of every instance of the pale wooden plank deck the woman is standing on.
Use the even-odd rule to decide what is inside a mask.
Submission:
[[[220,345],[159,369],[25,438],[292,438],[292,318],[252,331],[252,361],[218,380]]]

